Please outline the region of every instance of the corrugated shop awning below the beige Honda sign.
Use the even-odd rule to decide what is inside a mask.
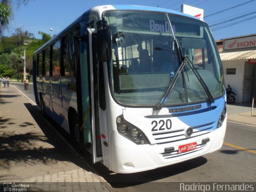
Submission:
[[[255,58],[256,58],[256,50],[220,53],[220,59],[222,61],[255,59]]]

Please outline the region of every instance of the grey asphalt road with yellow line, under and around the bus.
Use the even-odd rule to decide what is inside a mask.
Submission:
[[[33,102],[32,86],[14,84]],[[170,191],[169,182],[256,182],[256,127],[228,122],[224,145],[220,150],[186,162],[140,172],[115,174],[101,163],[91,164],[91,156],[83,156],[118,192]]]

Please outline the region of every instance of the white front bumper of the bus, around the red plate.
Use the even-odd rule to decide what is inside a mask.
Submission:
[[[110,170],[117,173],[135,173],[190,160],[220,149],[224,141],[225,132],[226,120],[220,128],[196,138],[166,144],[137,145],[121,136],[117,131],[113,131],[110,145]],[[210,140],[202,143],[202,140],[206,138]],[[195,150],[178,153],[180,145],[193,142],[197,142]],[[170,147],[174,147],[174,151],[168,156],[164,149]]]

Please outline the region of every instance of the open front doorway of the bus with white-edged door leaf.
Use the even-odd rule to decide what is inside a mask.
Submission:
[[[100,162],[102,158],[102,147],[100,142],[100,112],[98,99],[98,64],[96,60],[95,43],[89,46],[95,37],[92,30],[88,29],[85,39],[80,41],[80,82],[81,82],[81,105],[82,108],[82,135],[86,148],[92,154],[92,162]],[[94,39],[94,40],[92,40]],[[92,49],[90,49],[92,47]],[[79,104],[78,104],[79,105]],[[90,147],[88,147],[90,146]]]

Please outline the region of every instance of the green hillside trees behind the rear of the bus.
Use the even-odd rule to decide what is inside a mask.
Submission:
[[[34,34],[22,32],[20,28],[11,37],[0,38],[0,77],[22,78],[24,70],[24,50],[26,50],[26,72],[32,74],[33,53],[52,37],[44,32],[42,40]],[[30,42],[24,45],[24,41]]]

